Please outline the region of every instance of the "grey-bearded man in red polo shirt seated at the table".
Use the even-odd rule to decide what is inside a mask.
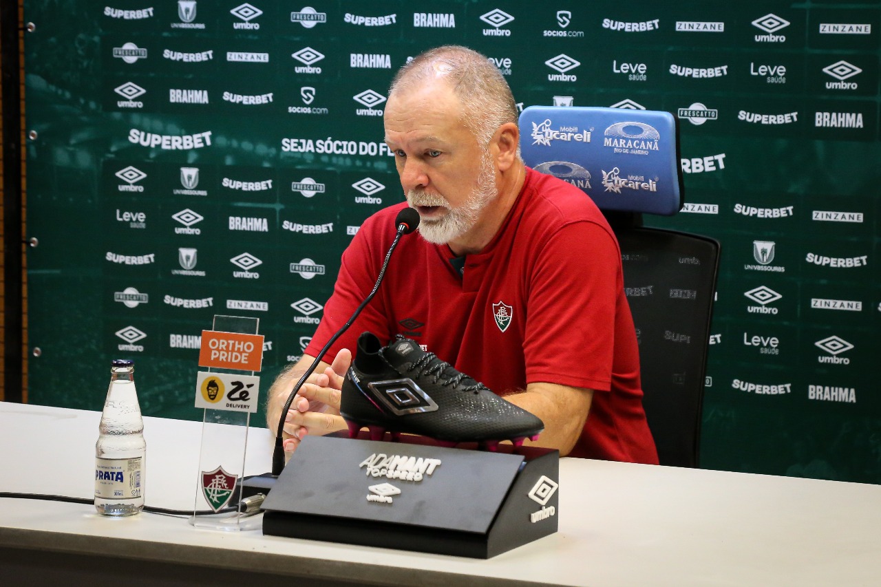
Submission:
[[[618,242],[588,197],[525,167],[511,91],[485,56],[435,48],[398,72],[385,140],[406,204],[366,219],[344,252],[312,343],[270,390],[269,424],[374,285],[396,213],[419,213],[380,293],[300,390],[285,450],[345,428],[340,389],[355,338],[398,333],[544,421],[561,455],[656,463]]]

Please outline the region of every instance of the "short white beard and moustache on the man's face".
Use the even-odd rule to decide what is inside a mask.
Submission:
[[[418,231],[422,238],[433,244],[446,244],[462,236],[478,223],[480,212],[499,194],[496,186],[495,166],[489,152],[480,159],[477,185],[460,207],[451,209],[440,194],[428,194],[421,189],[411,189],[407,201],[411,205],[442,206],[448,210],[439,219],[420,219]]]

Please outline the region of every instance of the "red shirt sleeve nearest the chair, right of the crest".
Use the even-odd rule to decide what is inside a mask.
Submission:
[[[611,389],[615,314],[624,286],[618,241],[591,221],[570,223],[539,252],[527,294],[527,383]]]

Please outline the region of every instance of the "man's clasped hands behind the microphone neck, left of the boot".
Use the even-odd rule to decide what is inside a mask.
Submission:
[[[267,420],[273,434],[278,431],[281,409],[291,395],[293,386],[300,381],[313,360],[313,357],[303,355],[296,365],[279,375],[272,384]],[[285,439],[286,453],[297,450],[300,441],[308,434],[326,435],[346,428],[345,421],[339,415],[339,403],[345,372],[351,364],[352,353],[342,349],[332,365],[321,361],[315,372],[309,375],[307,383],[294,396],[285,415],[282,437]]]

